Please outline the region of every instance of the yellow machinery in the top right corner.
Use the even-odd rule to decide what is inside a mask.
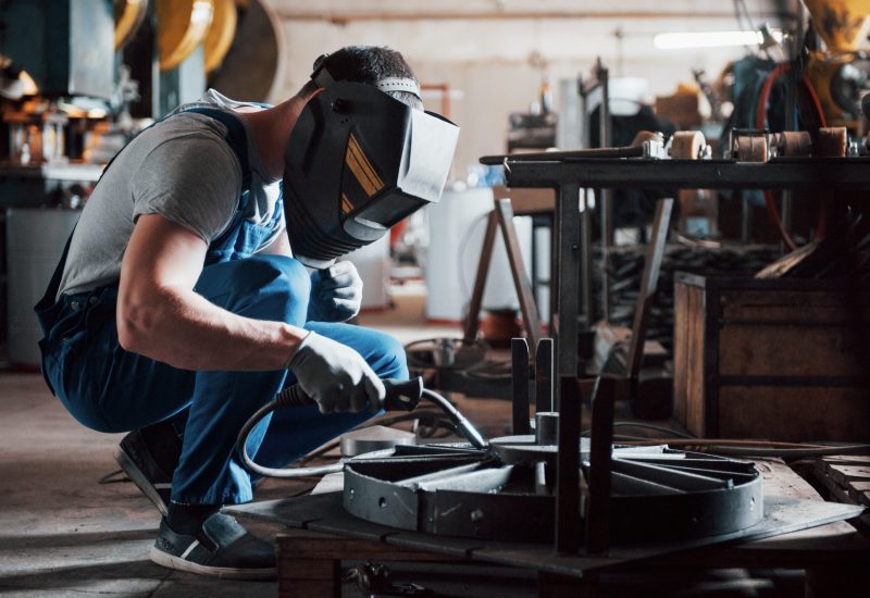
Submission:
[[[870,0],[804,0],[804,4],[825,46],[810,52],[806,75],[828,125],[862,135],[860,95],[870,86],[870,58],[859,46],[867,34]]]

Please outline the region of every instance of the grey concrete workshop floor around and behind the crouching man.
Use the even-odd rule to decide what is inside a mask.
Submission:
[[[422,312],[422,298],[410,298],[362,321],[402,342],[459,334],[424,327]],[[148,560],[157,509],[130,483],[99,484],[117,470],[112,456],[121,437],[75,422],[38,373],[0,364],[0,595],[276,596],[273,582],[216,581]],[[269,481],[257,498],[298,488]]]

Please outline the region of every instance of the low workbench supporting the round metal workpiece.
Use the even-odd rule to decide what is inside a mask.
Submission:
[[[820,508],[832,506],[782,462],[759,460],[757,465],[765,477],[766,501],[803,499]],[[368,560],[522,568],[537,573],[539,596],[554,597],[577,596],[582,589],[594,595],[602,572],[631,572],[638,568],[655,570],[664,577],[676,569],[806,570],[806,595],[816,598],[866,596],[870,588],[870,571],[860,566],[870,563],[870,541],[842,521],[744,544],[696,546],[626,562],[607,555],[556,555],[550,545],[437,537],[386,527],[348,515],[341,507],[340,493],[256,502],[225,511],[284,527],[275,541],[278,591],[286,597],[340,596],[341,562]],[[641,547],[638,553],[643,550]]]

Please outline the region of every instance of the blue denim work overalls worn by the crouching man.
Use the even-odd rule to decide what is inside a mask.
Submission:
[[[227,141],[247,173],[231,226],[209,246],[196,292],[239,315],[304,326],[356,349],[382,378],[407,378],[405,351],[393,337],[348,324],[306,322],[311,282],[304,266],[283,256],[253,254],[279,225],[283,208],[276,205],[275,217],[264,225],[245,219],[250,175],[244,130],[217,110],[194,110],[227,125]],[[293,372],[194,372],[125,351],[115,325],[116,285],[54,300],[65,259],[66,251],[36,306],[45,332],[42,373],[52,393],[96,431],[126,432],[167,420],[183,429],[174,502],[251,500],[250,475],[234,453],[236,436],[275,393],[296,383]],[[258,426],[248,450],[263,465],[283,466],[370,416],[284,409]]]

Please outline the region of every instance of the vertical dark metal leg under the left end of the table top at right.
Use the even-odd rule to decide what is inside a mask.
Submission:
[[[580,286],[580,187],[567,183],[556,195],[556,228],[559,232],[559,326],[556,336],[556,376],[577,375],[577,290]],[[560,387],[561,388],[561,387]],[[560,397],[556,404],[561,410]]]

